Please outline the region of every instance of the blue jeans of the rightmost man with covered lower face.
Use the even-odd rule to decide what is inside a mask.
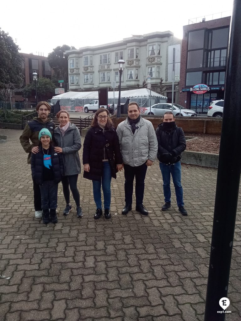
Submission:
[[[162,179],[163,179],[163,193],[165,197],[165,203],[171,203],[171,188],[170,188],[170,181],[171,181],[171,174],[172,180],[175,187],[176,192],[176,202],[177,206],[183,206],[183,187],[181,184],[181,162],[178,161],[173,165],[166,165],[159,162],[160,170],[162,172]]]

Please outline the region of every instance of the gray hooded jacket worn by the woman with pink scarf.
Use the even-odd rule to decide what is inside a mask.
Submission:
[[[78,151],[81,148],[81,136],[78,128],[69,124],[63,136],[58,126],[54,130],[54,141],[56,146],[63,149],[65,176],[79,174],[81,167]]]

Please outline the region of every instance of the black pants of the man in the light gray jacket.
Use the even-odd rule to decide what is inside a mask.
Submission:
[[[126,204],[132,204],[133,194],[133,181],[136,177],[136,205],[143,203],[145,177],[147,172],[147,165],[144,163],[140,166],[129,166],[124,164],[125,174],[125,202]]]

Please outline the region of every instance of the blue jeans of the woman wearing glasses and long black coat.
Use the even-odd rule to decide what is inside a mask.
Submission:
[[[93,180],[93,195],[96,208],[102,208],[101,185],[104,196],[104,209],[109,210],[111,206],[111,167],[108,161],[103,161],[101,181]]]

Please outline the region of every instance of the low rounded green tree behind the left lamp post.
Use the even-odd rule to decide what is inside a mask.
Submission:
[[[51,99],[56,88],[55,84],[49,79],[49,78],[38,78],[36,82],[36,88],[37,88],[37,95],[38,95],[38,101],[41,100],[48,100]],[[30,98],[35,96],[35,84],[34,82],[31,82],[30,84],[26,85],[23,88],[22,91],[23,97]]]

